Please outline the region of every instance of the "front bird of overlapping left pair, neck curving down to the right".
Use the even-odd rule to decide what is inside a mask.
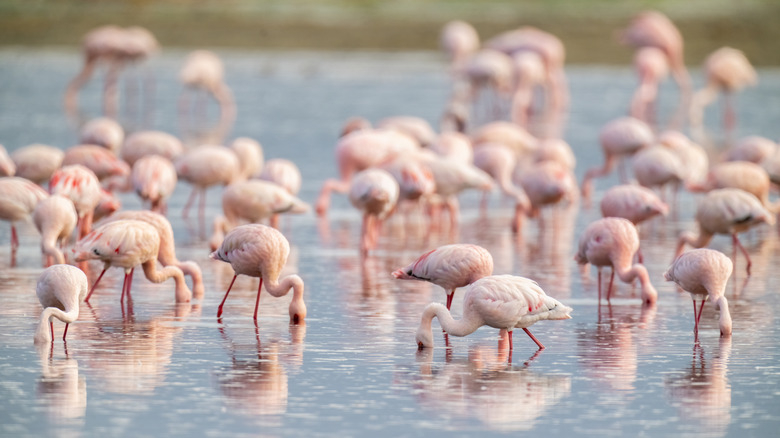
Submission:
[[[187,303],[192,298],[192,291],[184,281],[184,273],[176,266],[165,266],[157,269],[157,257],[160,252],[160,234],[152,225],[139,220],[124,219],[109,222],[96,227],[92,232],[76,242],[73,248],[77,262],[97,259],[103,262],[103,271],[98,276],[84,301],[95,292],[95,287],[103,278],[106,270],[117,266],[125,270],[122,284],[122,302],[125,294],[130,296],[133,282],[133,271],[141,265],[144,275],[153,283],[162,283],[173,277],[176,282],[176,302]]]

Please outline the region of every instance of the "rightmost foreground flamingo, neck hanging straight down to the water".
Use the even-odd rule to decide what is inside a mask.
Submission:
[[[720,251],[699,248],[684,252],[677,257],[669,269],[664,272],[666,281],[677,283],[691,294],[693,300],[693,332],[699,334],[699,319],[704,309],[704,301],[709,299],[715,310],[720,310],[720,335],[731,336],[731,314],[726,299],[726,283],[734,270],[731,259]],[[701,298],[699,311],[696,311],[696,298]]]

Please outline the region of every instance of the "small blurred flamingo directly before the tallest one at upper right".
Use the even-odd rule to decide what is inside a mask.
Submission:
[[[641,47],[634,55],[634,68],[639,76],[639,87],[631,99],[631,116],[653,124],[658,86],[669,75],[669,59],[657,47]]]

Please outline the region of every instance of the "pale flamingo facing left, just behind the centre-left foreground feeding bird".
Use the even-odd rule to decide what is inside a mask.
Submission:
[[[209,246],[212,251],[216,250],[225,233],[242,222],[258,223],[280,213],[308,213],[310,208],[309,204],[272,182],[249,180],[230,184],[222,193],[224,216],[214,220],[214,234]],[[274,228],[276,225],[272,223]]]

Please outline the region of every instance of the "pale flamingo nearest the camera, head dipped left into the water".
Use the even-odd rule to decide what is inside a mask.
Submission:
[[[433,318],[439,318],[442,329],[453,336],[466,336],[488,325],[509,332],[512,351],[512,331],[521,328],[539,346],[544,345],[528,331],[541,320],[570,319],[571,307],[547,296],[535,281],[513,275],[481,278],[466,288],[463,296],[463,318],[455,320],[440,303],[431,303],[423,310],[416,341],[420,349],[433,348]]]

